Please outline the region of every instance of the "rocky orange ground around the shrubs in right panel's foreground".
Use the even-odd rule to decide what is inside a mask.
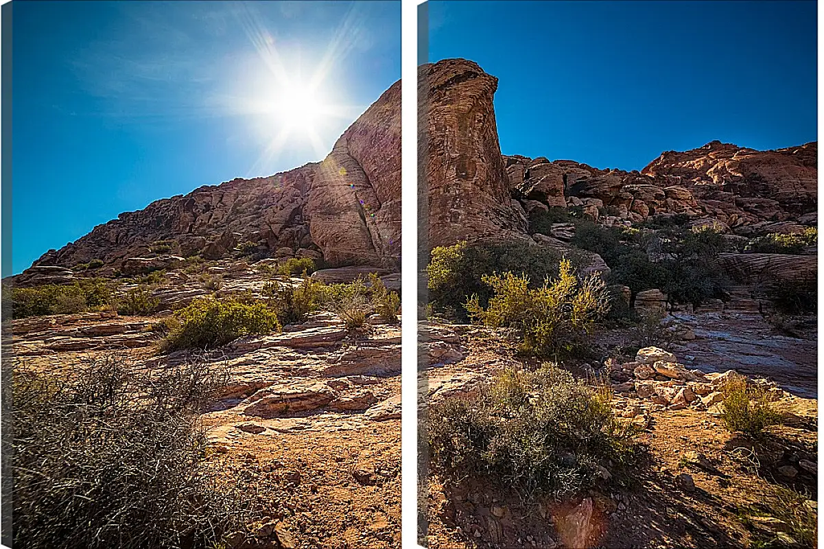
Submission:
[[[763,344],[756,350],[759,358],[774,353],[789,358],[797,344],[769,333],[757,315],[695,312],[685,323],[706,330],[696,329],[669,347],[677,354],[652,347],[604,364],[616,415],[639,429],[648,451],[648,461],[628,485],[611,482],[607,470],[606,480],[594,488],[559,501],[525,498],[508,486],[490,490],[489,481],[475,476],[456,481],[431,472],[425,485],[428,547],[756,547],[765,540],[777,540],[775,547],[808,547],[794,541],[780,505],[764,504],[775,505],[771,498],[778,486],[806,494],[800,501],[813,513],[817,509],[816,364],[809,360],[814,345],[800,351],[807,353],[801,362],[784,361],[812,376],[807,387],[812,394],[805,397],[798,396],[799,387],[762,378],[774,373],[770,362],[749,364],[747,382],[764,387],[784,415],[784,425],[753,443],[730,433],[719,417],[720,385],[744,378],[731,370],[720,373],[734,364],[717,359],[754,356],[752,330]],[[736,336],[726,334],[724,340],[722,324],[726,330],[734,325]],[[471,398],[499,370],[522,366],[502,331],[435,322],[423,328],[428,354],[439,349],[441,357],[430,358],[419,373],[429,403]],[[775,344],[783,348],[776,350]],[[715,367],[706,368],[706,359]],[[576,525],[571,533],[564,528],[569,522]]]

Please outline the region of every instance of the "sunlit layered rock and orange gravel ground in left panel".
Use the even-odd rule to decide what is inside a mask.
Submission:
[[[260,296],[265,284],[260,273],[231,260],[206,272],[223,277],[218,297]],[[152,293],[159,308],[171,308],[210,291],[173,270]],[[200,415],[207,464],[227,481],[249,480],[266,514],[254,540],[231,547],[399,547],[400,326],[372,318],[367,335],[352,336],[338,315],[316,312],[281,333],[208,353],[160,354],[162,334],[154,326],[170,312],[14,320],[15,368],[73,373],[110,356],[147,371],[187,360],[225,368],[225,386]]]

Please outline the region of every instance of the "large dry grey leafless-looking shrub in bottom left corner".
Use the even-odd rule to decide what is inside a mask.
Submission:
[[[71,377],[15,368],[14,547],[216,547],[246,496],[217,486],[194,413],[220,387],[203,362],[137,373],[95,359]]]

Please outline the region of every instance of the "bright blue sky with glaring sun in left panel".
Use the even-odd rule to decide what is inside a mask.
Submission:
[[[400,2],[15,2],[13,273],[154,200],[321,161],[399,78]]]

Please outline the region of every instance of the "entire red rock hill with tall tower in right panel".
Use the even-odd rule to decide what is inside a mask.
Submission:
[[[724,230],[767,223],[795,232],[817,221],[817,143],[756,151],[714,141],[663,152],[642,171],[502,155],[497,78],[466,59],[419,68],[429,245],[526,232],[536,208],[581,208],[599,223],[683,213]],[[803,228],[803,227],[802,227]]]

